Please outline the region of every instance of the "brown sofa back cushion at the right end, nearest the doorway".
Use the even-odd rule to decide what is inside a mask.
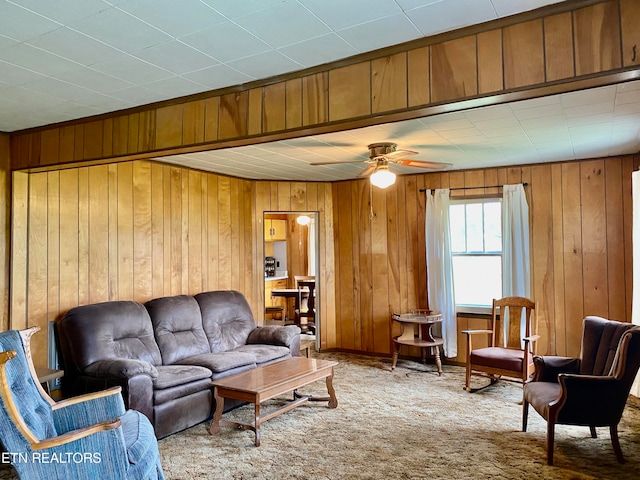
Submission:
[[[246,298],[235,290],[218,290],[195,296],[202,312],[202,326],[213,353],[233,350],[247,343],[256,328]]]

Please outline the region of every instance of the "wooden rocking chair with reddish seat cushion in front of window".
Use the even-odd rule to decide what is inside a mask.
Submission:
[[[524,384],[535,371],[533,353],[535,341],[532,334],[532,312],[535,303],[524,297],[505,297],[493,300],[491,326],[487,330],[463,330],[467,336],[467,375],[464,389],[471,388],[471,377],[490,379],[489,385],[498,380]],[[524,320],[523,320],[524,312]],[[524,321],[524,336],[521,324]],[[473,348],[473,337],[489,337],[489,346]],[[485,385],[487,386],[487,385]],[[481,387],[484,388],[484,387]]]

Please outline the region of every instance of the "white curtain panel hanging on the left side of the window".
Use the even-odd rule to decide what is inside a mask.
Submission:
[[[458,354],[456,303],[453,291],[449,189],[427,192],[426,209],[427,284],[429,308],[442,314],[444,356]]]

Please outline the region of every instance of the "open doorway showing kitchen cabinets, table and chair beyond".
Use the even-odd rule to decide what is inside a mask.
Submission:
[[[318,212],[264,212],[263,225],[265,324],[299,325],[303,334],[315,338],[317,347],[321,323]]]

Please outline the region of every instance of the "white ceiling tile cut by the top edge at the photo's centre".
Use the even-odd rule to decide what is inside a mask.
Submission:
[[[400,13],[393,0],[299,0],[332,30],[343,30],[360,23]]]

